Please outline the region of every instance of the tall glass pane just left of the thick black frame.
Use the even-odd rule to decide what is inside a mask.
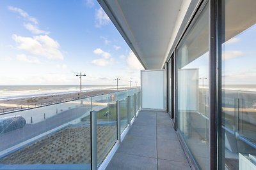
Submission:
[[[177,48],[178,131],[201,169],[209,168],[209,8]]]

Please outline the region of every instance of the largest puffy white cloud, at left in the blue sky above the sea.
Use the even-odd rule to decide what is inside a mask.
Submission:
[[[12,39],[18,44],[17,48],[33,55],[40,55],[47,59],[63,60],[64,58],[60,52],[58,41],[55,41],[47,35],[33,36],[33,38],[30,38],[13,34]]]

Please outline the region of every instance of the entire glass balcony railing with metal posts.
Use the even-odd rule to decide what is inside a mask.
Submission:
[[[0,114],[1,168],[104,166],[138,114],[139,96],[131,89]]]

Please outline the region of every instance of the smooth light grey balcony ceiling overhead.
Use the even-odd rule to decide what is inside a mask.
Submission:
[[[145,69],[161,69],[185,0],[98,1]]]

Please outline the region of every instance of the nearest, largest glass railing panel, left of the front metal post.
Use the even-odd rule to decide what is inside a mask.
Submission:
[[[1,115],[0,164],[90,168],[90,122],[82,121],[86,115],[90,120],[90,99]]]

